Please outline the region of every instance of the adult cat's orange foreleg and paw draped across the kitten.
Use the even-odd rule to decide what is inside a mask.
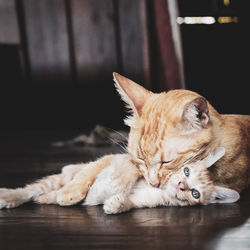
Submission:
[[[113,158],[114,155],[106,155],[95,162],[85,164],[73,180],[57,192],[57,203],[61,206],[70,206],[82,201],[96,176],[110,164]]]

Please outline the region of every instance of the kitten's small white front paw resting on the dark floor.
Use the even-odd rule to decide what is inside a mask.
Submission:
[[[124,198],[120,195],[114,195],[110,197],[103,206],[103,210],[106,214],[119,214],[126,211],[124,204]]]

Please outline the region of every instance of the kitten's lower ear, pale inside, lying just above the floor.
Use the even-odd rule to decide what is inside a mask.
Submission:
[[[239,200],[239,198],[240,194],[237,191],[230,188],[215,186],[209,203],[233,203]]]

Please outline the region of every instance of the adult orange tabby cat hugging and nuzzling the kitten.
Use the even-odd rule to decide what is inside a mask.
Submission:
[[[204,97],[192,91],[155,94],[117,73],[114,81],[132,110],[125,120],[130,127],[128,153],[149,184],[164,186],[172,170],[223,146],[225,156],[210,168],[213,181],[239,192],[248,186],[250,116],[221,115]],[[101,170],[93,168],[92,171],[93,177]],[[87,177],[82,178],[83,181],[71,183],[61,193],[63,204],[80,200],[80,197],[67,198],[74,190],[84,198]]]

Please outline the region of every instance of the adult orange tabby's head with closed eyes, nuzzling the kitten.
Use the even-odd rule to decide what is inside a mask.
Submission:
[[[188,90],[152,93],[114,73],[122,99],[132,110],[128,152],[146,181],[163,186],[171,170],[213,150],[213,119],[218,113],[205,98]]]

